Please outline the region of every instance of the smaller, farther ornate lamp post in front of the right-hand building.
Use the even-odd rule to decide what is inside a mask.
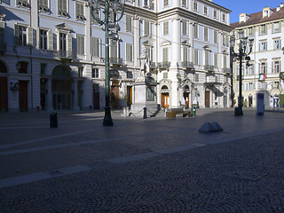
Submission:
[[[240,43],[239,43],[239,51],[234,51],[234,44],[235,44],[235,37],[231,36],[230,43],[231,43],[231,55],[233,60],[239,60],[240,62],[240,75],[239,75],[239,99],[238,99],[238,106],[234,109],[234,115],[243,115],[242,112],[242,92],[241,92],[241,83],[242,83],[242,62],[243,60],[246,61],[247,67],[250,66],[248,61],[250,57],[248,56],[252,51],[252,46],[254,43],[253,38],[244,37],[243,30],[239,31],[240,36]]]

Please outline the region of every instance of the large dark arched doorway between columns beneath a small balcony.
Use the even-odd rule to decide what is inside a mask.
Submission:
[[[53,109],[72,109],[72,77],[70,67],[59,65],[53,69],[51,92]]]

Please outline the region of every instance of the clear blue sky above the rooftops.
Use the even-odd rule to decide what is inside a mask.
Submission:
[[[213,0],[213,3],[224,6],[231,10],[230,22],[239,21],[239,14],[246,12],[250,13],[261,12],[264,7],[276,8],[280,6],[280,3],[284,3],[284,0]]]

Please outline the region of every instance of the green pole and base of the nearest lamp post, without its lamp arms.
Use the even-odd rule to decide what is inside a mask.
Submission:
[[[105,117],[104,117],[104,126],[113,126],[114,122],[111,115],[111,107],[109,104],[109,94],[110,94],[110,88],[109,88],[109,41],[108,41],[108,16],[109,16],[109,3],[106,1],[106,107],[105,107]]]

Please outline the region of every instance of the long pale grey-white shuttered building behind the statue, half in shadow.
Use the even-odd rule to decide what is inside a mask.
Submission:
[[[229,15],[207,0],[125,1],[109,36],[111,106],[135,99],[144,48],[162,107],[230,106]],[[0,1],[1,111],[102,109],[105,39],[88,1]]]

